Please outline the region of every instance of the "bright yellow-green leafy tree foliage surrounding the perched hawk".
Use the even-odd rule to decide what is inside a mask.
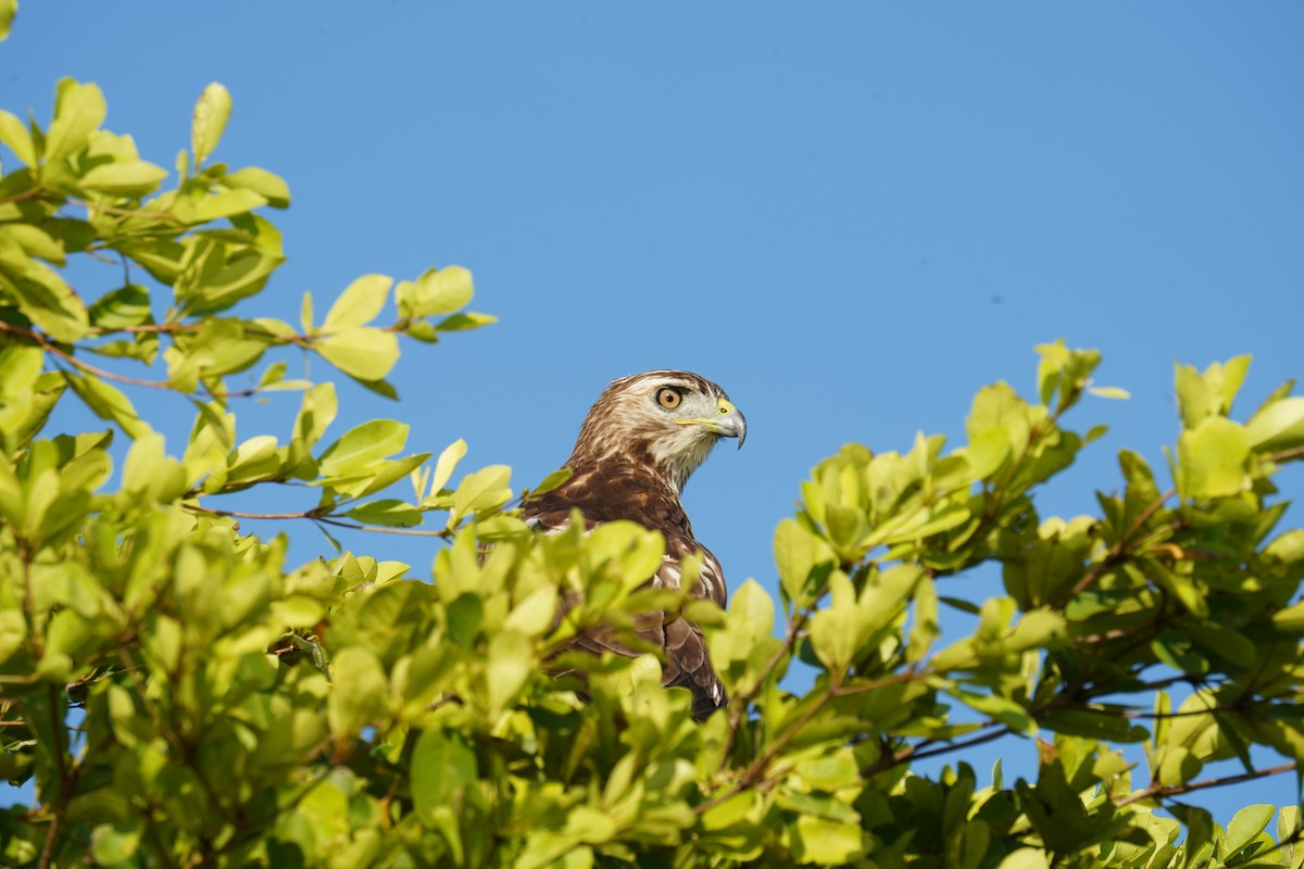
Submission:
[[[336,393],[287,379],[287,350],[393,395],[400,337],[492,318],[459,267],[365,275],[325,317],[305,296],[297,327],[237,314],[283,261],[267,208],[289,192],[210,160],[230,107],[205,90],[171,176],[102,129],[94,85],[60,82],[44,126],[0,112],[0,770],[35,782],[0,814],[0,862],[1304,865],[1297,808],[1224,829],[1180,799],[1228,780],[1209,763],[1248,779],[1304,754],[1304,530],[1278,529],[1273,482],[1304,453],[1291,384],[1234,418],[1248,357],[1179,367],[1162,473],[1121,452],[1097,515],[1041,516],[1102,433],[1064,422],[1098,353],[1043,345],[1035,395],[982,390],[965,443],[820,463],[775,532],[780,599],[748,581],[722,612],[639,589],[655,533],[531,534],[506,466],[454,482],[462,442],[402,455],[391,420],[327,438]],[[125,276],[91,298],[74,257]],[[193,409],[180,455],[141,388]],[[280,391],[301,392],[292,430],[237,436],[232,408]],[[50,431],[64,401],[111,427]],[[441,538],[429,576],[287,564],[284,537],[237,525],[287,482],[318,490],[288,517]],[[982,565],[1005,594],[966,599]],[[666,607],[707,625],[733,700],[703,724],[655,658],[563,651]],[[973,633],[943,636],[943,607]],[[785,681],[798,662],[812,675]],[[570,664],[587,680],[550,675]],[[964,762],[995,739],[1034,744],[1035,779]]]

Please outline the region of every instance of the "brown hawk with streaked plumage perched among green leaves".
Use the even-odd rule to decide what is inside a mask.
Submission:
[[[724,607],[728,597],[720,562],[692,537],[679,492],[721,438],[738,438],[747,421],[719,386],[687,371],[648,371],[613,380],[588,412],[575,449],[566,461],[570,479],[526,506],[526,521],[541,530],[570,524],[578,508],[588,528],[630,520],[665,535],[665,559],[648,582],[679,588],[679,565],[691,554],[703,559],[691,589]],[[724,688],[707,654],[702,628],[673,619],[639,636],[665,650],[661,683],[692,692],[692,715],[703,719],[725,705]],[[591,633],[575,645],[589,651],[631,655],[614,637]]]

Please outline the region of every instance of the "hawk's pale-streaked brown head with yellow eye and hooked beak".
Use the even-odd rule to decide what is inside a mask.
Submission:
[[[742,447],[746,436],[747,420],[719,386],[689,371],[648,371],[606,387],[567,464],[625,457],[679,491],[721,438]]]

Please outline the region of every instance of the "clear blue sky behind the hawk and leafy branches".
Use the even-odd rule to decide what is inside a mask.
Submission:
[[[297,322],[303,291],[323,310],[364,272],[471,268],[473,307],[501,322],[406,344],[398,405],[340,383],[336,435],[399,418],[411,451],[466,438],[467,469],[510,464],[522,487],[566,459],[608,380],[719,382],[747,446],[713,456],[686,506],[730,585],[773,589],[773,528],[811,466],[849,440],[962,436],[983,384],[1033,392],[1038,343],[1101,348],[1099,382],[1133,396],[1069,417],[1111,434],[1046,515],[1093,511],[1119,448],[1163,466],[1175,361],[1253,353],[1241,414],[1304,374],[1301,38],[1304,5],[1269,0],[25,0],[0,106],[46,121],[57,78],[98,82],[107,126],[171,167],[223,82],[216,159],[293,193],[258,314]],[[133,397],[179,452],[188,406]],[[250,436],[288,434],[296,406],[236,410]],[[1284,481],[1297,495],[1304,476]],[[322,551],[289,530],[297,560]],[[429,575],[425,542],[347,543]],[[981,778],[998,753],[1033,758],[977,753]],[[1226,822],[1292,803],[1287,778],[1193,801]]]

